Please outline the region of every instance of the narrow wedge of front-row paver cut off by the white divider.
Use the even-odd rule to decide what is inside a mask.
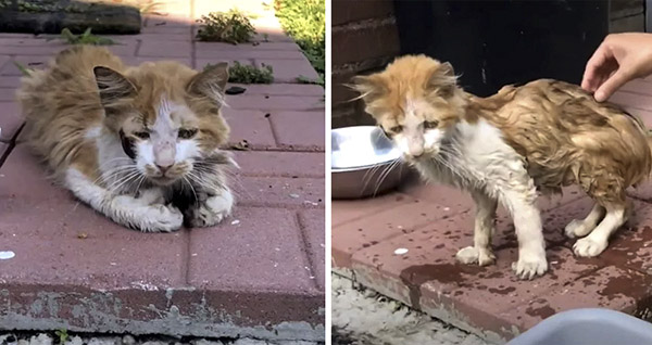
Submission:
[[[305,237],[306,250],[312,264],[312,277],[317,282],[318,290],[324,290],[326,286],[326,260],[324,257],[324,252],[326,251],[325,216],[324,209],[299,212],[299,223]]]

